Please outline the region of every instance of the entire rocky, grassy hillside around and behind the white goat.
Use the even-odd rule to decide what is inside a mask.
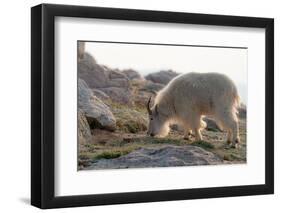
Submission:
[[[166,138],[148,137],[147,100],[178,73],[166,70],[143,77],[132,69],[100,65],[88,53],[78,55],[79,170],[246,162],[245,106],[239,110],[238,149],[226,144],[226,133],[210,118],[203,141],[184,140],[175,126]]]

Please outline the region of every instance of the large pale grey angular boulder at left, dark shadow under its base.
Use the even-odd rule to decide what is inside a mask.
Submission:
[[[116,129],[116,120],[109,107],[93,95],[82,79],[78,79],[78,108],[85,112],[91,128]]]

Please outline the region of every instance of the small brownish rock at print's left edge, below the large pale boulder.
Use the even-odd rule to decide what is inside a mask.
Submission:
[[[92,137],[90,126],[87,122],[85,113],[78,109],[78,140],[79,144],[85,144],[90,141]]]

